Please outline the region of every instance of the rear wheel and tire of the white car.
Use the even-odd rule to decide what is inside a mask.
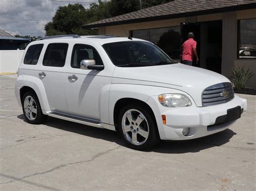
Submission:
[[[22,97],[22,110],[26,122],[42,124],[46,115],[43,114],[38,98],[33,91],[27,91]]]

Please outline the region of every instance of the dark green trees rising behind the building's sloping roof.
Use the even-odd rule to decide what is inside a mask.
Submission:
[[[82,25],[137,11],[140,9],[140,5],[144,9],[166,2],[170,2],[170,0],[142,0],[141,4],[138,0],[99,0],[98,3],[90,4],[89,9],[85,9],[79,3],[59,6],[52,22],[47,23],[44,29],[46,36],[59,34],[96,35],[98,34],[97,30],[84,30]]]

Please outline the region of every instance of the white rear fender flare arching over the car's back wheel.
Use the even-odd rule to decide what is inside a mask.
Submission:
[[[38,77],[34,77],[31,75],[19,75],[17,79],[17,84],[18,90],[20,90],[24,86],[28,86],[36,92],[43,114],[46,114],[46,111],[50,111],[48,99],[44,89],[44,84],[40,79],[38,79]]]

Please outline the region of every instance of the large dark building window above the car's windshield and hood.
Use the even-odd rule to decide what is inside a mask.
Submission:
[[[180,60],[180,26],[131,31],[132,37],[151,41],[173,60]]]

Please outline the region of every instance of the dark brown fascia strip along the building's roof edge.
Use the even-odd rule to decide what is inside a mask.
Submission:
[[[107,23],[98,23],[98,24],[93,24],[93,23],[90,24],[89,23],[89,24],[83,25],[82,28],[83,29],[92,29],[92,28],[98,28],[98,27],[103,27],[103,26],[114,26],[114,25],[120,25],[120,24],[151,22],[151,21],[156,21],[156,20],[165,20],[165,19],[182,18],[182,17],[193,17],[193,16],[199,16],[199,15],[209,15],[209,14],[214,14],[214,13],[240,11],[240,10],[247,10],[247,9],[256,9],[256,3],[226,6],[223,8],[184,12],[184,13],[177,13],[177,14],[172,14],[172,15],[161,15],[161,16],[156,16],[156,17],[143,17],[143,18],[130,19],[130,20],[117,20],[114,22],[107,22]]]

